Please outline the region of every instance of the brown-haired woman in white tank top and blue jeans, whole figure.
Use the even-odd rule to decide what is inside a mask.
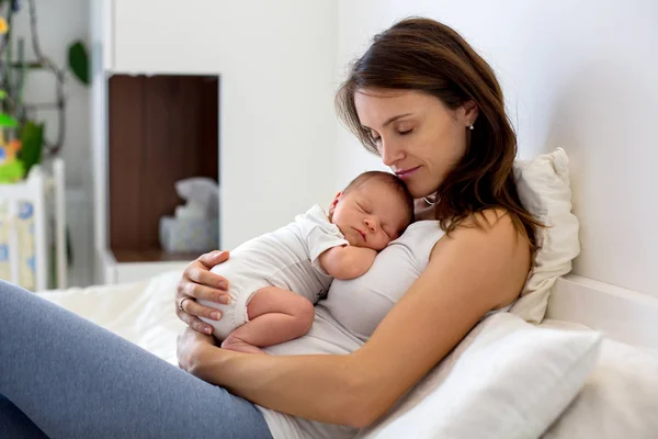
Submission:
[[[430,221],[364,277],[334,281],[310,333],[272,356],[225,351],[202,334],[200,316],[220,316],[195,301],[225,302],[230,279],[208,271],[226,252],[200,257],[175,296],[190,374],[2,285],[0,434],[353,437],[487,313],[513,303],[538,224],[517,196],[515,136],[490,67],[450,27],[405,20],[375,37],[337,102]]]

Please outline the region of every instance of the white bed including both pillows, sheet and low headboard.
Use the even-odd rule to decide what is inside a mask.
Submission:
[[[648,439],[658,431],[658,299],[569,273],[579,223],[563,149],[517,162],[515,176],[522,202],[548,225],[522,296],[509,313],[481,320],[360,439]],[[180,275],[37,294],[175,365]]]

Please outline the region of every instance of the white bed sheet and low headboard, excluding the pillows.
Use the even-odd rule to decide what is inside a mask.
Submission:
[[[175,317],[172,303],[180,275],[180,271],[171,271],[136,283],[38,294],[175,365],[175,337],[184,327]],[[583,306],[586,303],[588,306]],[[592,307],[591,304],[597,305]],[[610,318],[611,315],[643,318],[620,323]],[[645,294],[577,275],[566,275],[556,282],[546,319],[538,327],[544,330],[593,328],[604,338],[593,371],[576,398],[560,410],[559,417],[542,437],[655,438],[658,431],[656,322],[658,301]],[[404,431],[409,435],[406,437],[434,437],[419,434],[415,428],[402,424]],[[363,437],[393,438],[396,435],[375,431],[372,435],[365,432]]]

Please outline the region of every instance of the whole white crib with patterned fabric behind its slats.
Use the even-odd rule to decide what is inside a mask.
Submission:
[[[0,279],[26,290],[67,286],[65,165],[34,166],[27,178],[0,184]]]

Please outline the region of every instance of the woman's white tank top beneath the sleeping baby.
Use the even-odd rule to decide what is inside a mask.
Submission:
[[[345,354],[359,349],[384,316],[426,269],[434,244],[444,235],[436,221],[411,224],[377,255],[362,277],[334,280],[316,305],[313,327],[304,337],[264,350],[276,356]],[[353,438],[358,430],[283,415],[259,407],[274,439]]]

